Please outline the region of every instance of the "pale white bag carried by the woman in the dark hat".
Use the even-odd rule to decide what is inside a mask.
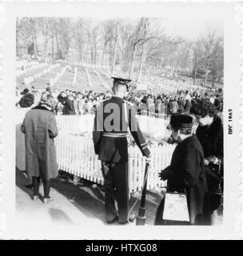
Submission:
[[[185,193],[165,193],[163,220],[189,222],[189,210]]]

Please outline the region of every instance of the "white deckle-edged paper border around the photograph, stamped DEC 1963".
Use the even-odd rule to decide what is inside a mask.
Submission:
[[[198,7],[199,6],[199,7]],[[2,2],[0,21],[0,238],[4,239],[240,239],[242,237],[242,2]],[[165,17],[206,13],[224,20],[224,162],[222,226],[25,226],[15,215],[15,24],[17,17]],[[1,41],[2,36],[2,41]],[[1,43],[2,42],[2,43]],[[240,54],[241,53],[241,54]],[[240,58],[241,57],[241,58]],[[2,63],[1,63],[2,62]],[[2,66],[2,69],[1,69]],[[2,80],[1,80],[2,76]],[[1,94],[0,94],[1,97]],[[233,134],[228,134],[228,110]],[[2,200],[1,200],[2,198]],[[34,213],[33,213],[34,214]],[[38,234],[34,232],[39,227]],[[2,234],[1,234],[2,233]]]

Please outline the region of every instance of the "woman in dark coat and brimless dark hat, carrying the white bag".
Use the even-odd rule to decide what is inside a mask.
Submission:
[[[185,193],[191,225],[206,225],[209,219],[208,188],[205,178],[204,154],[197,137],[192,134],[193,118],[189,115],[172,115],[170,120],[172,138],[178,142],[171,163],[161,170],[160,177],[167,180],[169,192]],[[165,198],[157,209],[155,225],[163,225]],[[167,222],[168,224],[168,222]],[[178,225],[178,222],[170,222]]]

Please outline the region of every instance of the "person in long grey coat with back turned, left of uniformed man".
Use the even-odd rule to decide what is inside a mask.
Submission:
[[[43,94],[38,106],[26,113],[21,130],[26,142],[26,172],[34,186],[34,200],[40,198],[40,179],[44,185],[43,202],[50,202],[50,179],[58,176],[54,138],[58,126],[53,112],[54,97]]]

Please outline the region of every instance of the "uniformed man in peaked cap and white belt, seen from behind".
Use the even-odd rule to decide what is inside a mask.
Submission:
[[[149,148],[135,117],[135,107],[123,100],[131,80],[114,78],[114,96],[100,102],[94,118],[93,141],[95,154],[102,161],[105,181],[105,206],[107,223],[132,222],[135,215],[128,216],[128,128],[141,154],[149,158]],[[115,207],[118,202],[118,210]]]

